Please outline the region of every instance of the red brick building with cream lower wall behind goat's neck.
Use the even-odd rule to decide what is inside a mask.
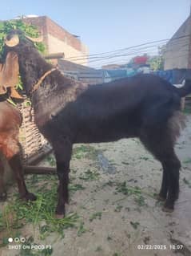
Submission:
[[[59,26],[46,16],[35,18],[24,18],[23,22],[30,23],[38,27],[38,30],[43,35],[43,40],[46,43],[47,54],[64,52],[65,58],[86,55],[87,58],[81,61],[70,59],[74,63],[83,63],[87,65],[89,50],[80,39],[70,34],[67,30]]]

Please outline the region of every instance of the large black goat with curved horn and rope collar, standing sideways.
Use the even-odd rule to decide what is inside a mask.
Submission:
[[[34,119],[54,148],[59,178],[56,213],[63,216],[68,202],[72,147],[138,137],[161,162],[163,177],[159,198],[172,211],[179,193],[181,163],[174,152],[183,117],[181,96],[191,83],[177,89],[155,75],[136,75],[86,87],[52,69],[34,44],[12,31],[6,37],[6,54],[14,51],[26,94],[34,106]]]

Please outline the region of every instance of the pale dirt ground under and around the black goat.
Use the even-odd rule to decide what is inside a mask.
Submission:
[[[139,140],[90,144],[89,149],[77,150],[71,161],[71,183],[84,189],[71,193],[66,206],[66,214],[81,217],[81,232],[71,228],[64,238],[50,234],[40,241],[34,226],[24,226],[24,236],[51,245],[54,256],[191,255],[191,116],[176,146],[181,193],[173,213],[163,212],[153,198],[161,185],[161,165]],[[1,256],[19,255],[7,246],[0,250]]]

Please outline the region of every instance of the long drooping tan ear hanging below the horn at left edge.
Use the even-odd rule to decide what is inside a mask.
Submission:
[[[18,74],[18,55],[10,51],[6,55],[6,62],[0,64],[0,94],[6,93],[6,87],[14,88],[18,84]]]

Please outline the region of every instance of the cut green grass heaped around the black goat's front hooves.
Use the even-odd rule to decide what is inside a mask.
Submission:
[[[20,229],[26,223],[32,223],[34,226],[40,226],[41,238],[46,238],[52,232],[63,238],[65,229],[77,227],[79,218],[77,213],[67,214],[61,219],[55,218],[54,210],[58,201],[57,185],[54,184],[50,190],[45,190],[45,193],[35,193],[38,199],[33,202],[23,202],[18,198],[13,202],[12,198],[0,215],[1,231]],[[41,227],[42,222],[46,224]]]

